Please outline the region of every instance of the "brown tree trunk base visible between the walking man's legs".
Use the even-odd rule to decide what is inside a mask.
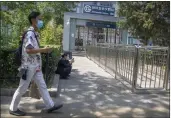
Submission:
[[[29,96],[32,98],[40,99],[40,93],[34,81],[31,82]]]

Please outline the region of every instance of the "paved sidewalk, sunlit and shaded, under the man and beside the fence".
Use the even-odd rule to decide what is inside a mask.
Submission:
[[[43,113],[43,101],[22,98],[21,108],[28,112],[22,118],[169,118],[169,94],[132,94],[121,80],[98,67],[86,57],[74,57],[73,72],[64,83],[60,98],[64,107],[51,114]],[[56,81],[57,82],[57,78]],[[52,89],[55,88],[55,84]],[[1,96],[1,117],[8,114],[11,97]]]

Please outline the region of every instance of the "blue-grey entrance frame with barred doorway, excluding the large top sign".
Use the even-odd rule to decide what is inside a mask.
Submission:
[[[118,29],[116,22],[122,18],[114,16],[64,14],[63,51],[84,51],[86,45],[126,44],[127,30]]]

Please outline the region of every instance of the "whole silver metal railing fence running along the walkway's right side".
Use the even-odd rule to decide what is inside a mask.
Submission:
[[[170,90],[168,47],[87,46],[87,57],[135,89]]]

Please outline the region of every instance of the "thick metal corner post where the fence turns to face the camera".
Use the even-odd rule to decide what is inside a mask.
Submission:
[[[132,92],[134,92],[136,89],[137,75],[138,75],[138,73],[137,73],[138,72],[138,62],[139,62],[139,49],[135,47]]]

